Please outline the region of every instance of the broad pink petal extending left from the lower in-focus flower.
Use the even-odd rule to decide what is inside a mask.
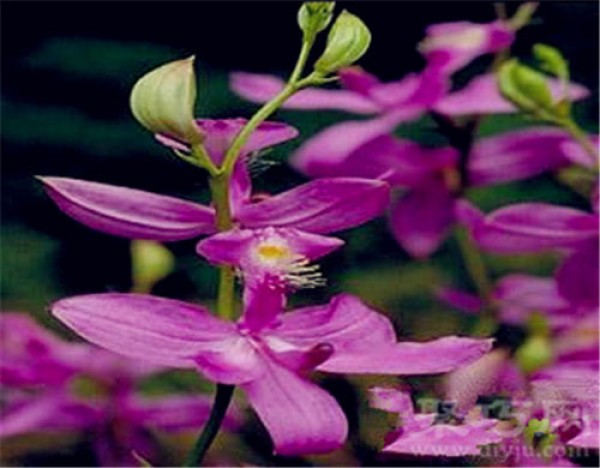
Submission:
[[[52,313],[92,343],[175,367],[194,367],[200,353],[235,337],[232,324],[199,306],[139,294],[76,296],[56,302]]]

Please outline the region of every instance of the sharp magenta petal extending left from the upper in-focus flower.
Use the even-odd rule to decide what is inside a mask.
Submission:
[[[58,207],[92,229],[134,239],[176,241],[214,231],[214,211],[177,198],[62,177],[40,180]]]

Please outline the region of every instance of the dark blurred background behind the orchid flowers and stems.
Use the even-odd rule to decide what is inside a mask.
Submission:
[[[383,80],[395,80],[422,67],[415,46],[426,25],[495,18],[493,4],[485,1],[339,3],[338,9],[359,15],[371,29],[372,46],[361,65]],[[204,175],[156,144],[133,120],[129,91],[146,71],[195,54],[197,115],[249,117],[256,107],[228,90],[228,73],[288,73],[300,41],[298,6],[297,2],[229,1],[2,2],[2,310],[32,314],[70,336],[48,316],[49,303],[68,295],[131,287],[129,242],[89,230],[60,213],[34,176],[82,178],[206,201]],[[508,2],[509,13],[516,6]],[[578,104],[576,111],[584,127],[597,131],[597,2],[542,2],[534,22],[519,33],[515,55],[527,60],[536,42],[560,49],[570,61],[573,81],[591,89],[591,98]],[[457,82],[488,64],[485,58],[476,61],[461,71]],[[280,111],[275,118],[297,127],[301,136],[264,156],[275,164],[255,183],[257,190],[269,192],[303,180],[285,164],[291,151],[328,125],[356,117]],[[519,116],[492,117],[481,132],[492,134],[525,125],[531,123]],[[425,118],[402,126],[398,134],[431,143],[439,141],[433,127]],[[481,189],[470,197],[485,210],[533,199],[585,206],[583,198],[551,176]],[[464,333],[471,319],[432,296],[432,288],[441,284],[468,287],[453,240],[430,260],[416,262],[392,239],[386,223],[381,218],[343,233],[346,247],[322,263],[329,286],[300,292],[293,302],[325,301],[336,292],[348,291],[389,314],[401,336],[421,339]],[[193,245],[190,241],[168,246],[176,256],[176,268],[156,285],[156,294],[211,301],[215,272],[193,254]],[[488,262],[496,276],[515,270],[549,274],[555,265],[550,256],[488,257]],[[507,339],[518,340],[518,333],[509,335]],[[191,389],[210,390],[194,375],[165,377],[157,385],[171,385],[173,379]],[[370,383],[328,379],[324,385],[340,399],[351,425],[361,420],[361,432],[353,441],[354,456],[362,464],[386,463],[375,449],[387,423],[381,415],[357,410],[357,392]],[[415,385],[428,388],[430,382],[421,379]],[[243,454],[230,453],[234,460],[283,465],[315,460],[353,463],[323,457],[275,459],[261,430],[255,421],[249,423],[240,442]],[[24,458],[18,450],[15,453],[19,463],[32,465],[85,463],[73,448],[42,450]]]

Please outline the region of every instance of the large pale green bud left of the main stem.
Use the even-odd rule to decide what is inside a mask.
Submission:
[[[130,96],[133,115],[153,133],[189,143],[203,135],[194,122],[196,76],[194,57],[169,62],[142,76]]]

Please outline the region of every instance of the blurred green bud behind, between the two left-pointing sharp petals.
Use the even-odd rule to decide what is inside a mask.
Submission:
[[[147,240],[131,242],[131,276],[134,291],[150,292],[152,287],[174,268],[173,254],[158,242]]]

